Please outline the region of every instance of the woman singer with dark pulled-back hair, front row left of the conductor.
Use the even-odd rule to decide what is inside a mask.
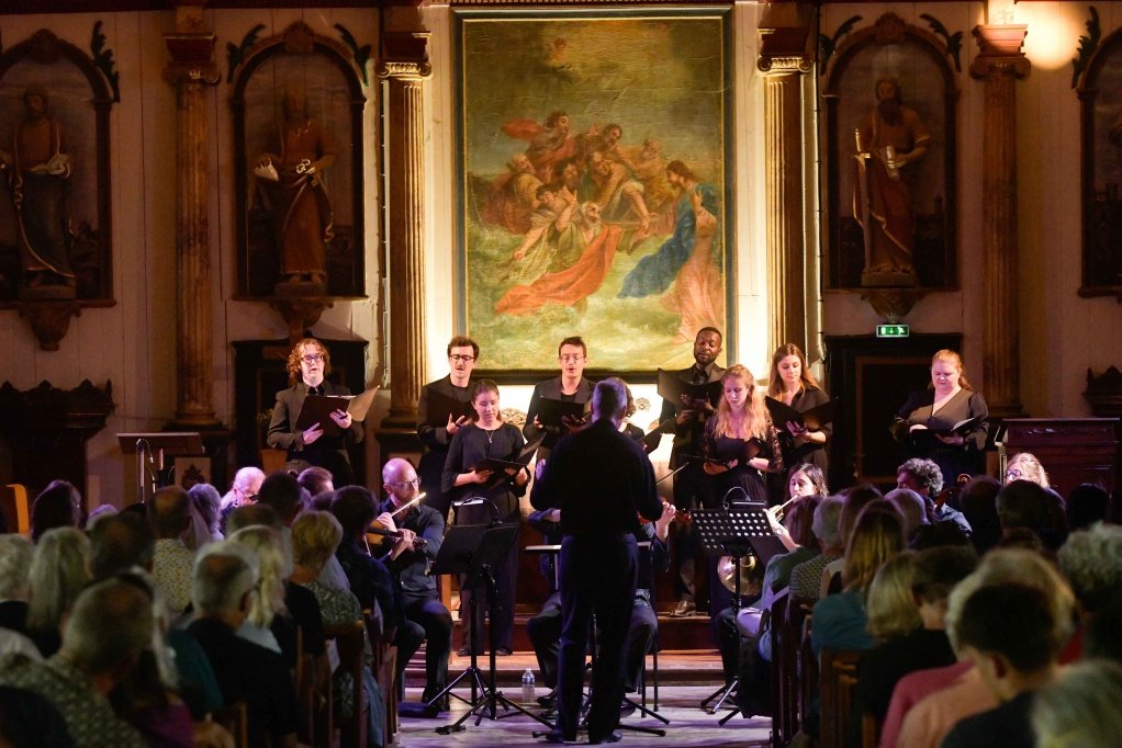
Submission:
[[[518,498],[526,492],[530,473],[525,469],[507,471],[507,474],[495,474],[489,470],[473,470],[484,460],[514,461],[522,452],[525,440],[517,426],[504,423],[499,410],[498,385],[489,379],[476,382],[471,390],[471,407],[475,410],[472,422],[452,436],[444,460],[444,474],[441,488],[451,496],[454,504],[461,499],[481,497],[489,500],[478,507],[461,507],[456,512],[458,525],[486,525],[491,520],[491,505],[498,510],[498,518],[504,523],[521,523],[522,512]],[[499,615],[491,621],[495,628],[495,653],[511,654],[514,645],[514,590],[518,572],[518,543],[506,557],[506,563],[498,572],[498,599],[496,604]],[[460,593],[460,616],[467,615],[470,592]],[[476,652],[482,650],[484,601],[476,607],[476,625],[471,645]],[[461,648],[466,652],[467,640]]]

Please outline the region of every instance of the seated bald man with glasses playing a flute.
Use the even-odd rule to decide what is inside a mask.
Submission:
[[[397,579],[405,606],[405,617],[424,628],[425,702],[444,690],[448,683],[448,656],[452,652],[452,616],[440,601],[436,578],[429,575],[429,564],[436,557],[444,538],[444,517],[424,502],[407,506],[420,493],[417,473],[408,460],[394,458],[381,469],[386,500],[377,521],[388,530],[401,533],[383,557],[390,573]],[[396,515],[394,512],[397,512]],[[423,547],[417,541],[423,539]],[[408,663],[397,661],[397,682],[404,683],[403,673]],[[434,704],[440,711],[448,709],[448,698]]]

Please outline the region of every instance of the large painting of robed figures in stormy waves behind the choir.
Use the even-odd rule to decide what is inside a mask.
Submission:
[[[488,369],[549,369],[565,335],[636,372],[735,340],[729,21],[457,13],[459,326]]]

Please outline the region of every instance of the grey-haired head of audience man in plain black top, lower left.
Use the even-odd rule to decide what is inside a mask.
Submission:
[[[259,561],[251,548],[233,541],[206,545],[191,572],[191,602],[195,615],[221,618],[237,629],[249,615],[257,587]]]

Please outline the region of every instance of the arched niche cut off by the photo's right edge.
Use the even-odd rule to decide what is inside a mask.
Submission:
[[[1078,87],[1083,108],[1080,296],[1122,299],[1122,31],[1092,56]]]

